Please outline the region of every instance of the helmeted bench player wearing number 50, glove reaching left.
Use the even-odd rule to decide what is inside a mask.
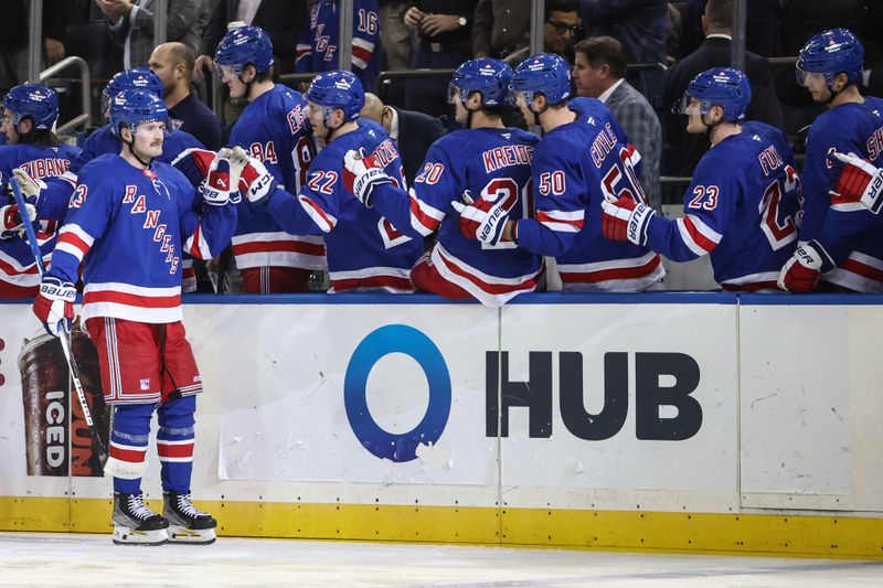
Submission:
[[[540,53],[524,60],[512,78],[517,105],[545,136],[531,167],[536,214],[512,220],[500,203],[477,200],[460,213],[475,238],[513,240],[555,257],[563,288],[572,291],[638,291],[664,276],[659,255],[641,245],[613,243],[602,235],[605,195],[632,194],[646,202],[639,183],[640,156],[610,111],[595,98],[571,96],[567,62]]]

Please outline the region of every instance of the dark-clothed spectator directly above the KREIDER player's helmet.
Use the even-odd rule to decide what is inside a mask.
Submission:
[[[478,0],[472,56],[502,58],[530,45],[531,0]]]

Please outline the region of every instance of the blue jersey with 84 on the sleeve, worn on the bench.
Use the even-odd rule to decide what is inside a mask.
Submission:
[[[286,86],[275,86],[243,111],[230,135],[231,145],[242,146],[264,162],[281,186],[297,194],[307,178],[316,150],[307,130],[307,100]],[[238,204],[233,254],[241,269],[296,267],[325,269],[325,245],[309,233],[287,234],[264,210]]]

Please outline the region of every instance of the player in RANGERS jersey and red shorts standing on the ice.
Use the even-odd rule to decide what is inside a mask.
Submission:
[[[110,105],[123,148],[83,167],[52,266],[34,301],[47,332],[64,336],[83,265],[82,319],[98,351],[105,400],[114,407],[109,459],[114,542],[211,543],[216,523],[190,501],[195,394],[202,378],[181,323],[181,255],[209,259],[230,242],[237,169],[221,157],[196,189],[162,153],[167,110],[143,90]],[[233,192],[236,193],[235,191]],[[141,498],[150,419],[158,414],[162,515]]]

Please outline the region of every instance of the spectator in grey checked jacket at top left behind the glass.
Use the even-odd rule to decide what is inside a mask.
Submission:
[[[123,68],[145,66],[153,51],[153,12],[151,0],[95,0],[107,18],[110,38],[123,49]],[[205,0],[169,0],[166,40],[180,41],[193,51],[199,49],[198,23],[203,22]]]

